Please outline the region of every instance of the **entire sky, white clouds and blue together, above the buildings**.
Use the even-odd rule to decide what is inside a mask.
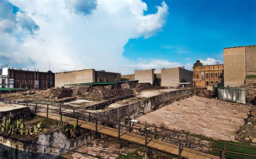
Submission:
[[[0,0],[0,65],[53,72],[223,62],[256,45],[255,0]]]

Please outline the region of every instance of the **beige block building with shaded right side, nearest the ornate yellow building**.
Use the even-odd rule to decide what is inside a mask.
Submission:
[[[192,83],[193,72],[182,67],[161,69],[161,86],[178,86],[179,83]],[[187,84],[186,86],[192,86]]]

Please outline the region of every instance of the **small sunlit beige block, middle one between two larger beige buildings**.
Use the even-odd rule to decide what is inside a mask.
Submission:
[[[139,80],[139,83],[154,82],[154,70],[137,70],[134,71],[134,80]]]

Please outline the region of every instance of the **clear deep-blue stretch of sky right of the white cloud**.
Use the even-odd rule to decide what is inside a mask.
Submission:
[[[159,1],[144,1],[150,12]],[[223,48],[256,45],[256,1],[165,1],[169,17],[149,39],[130,39],[124,56],[186,63],[207,57],[223,61]],[[245,3],[246,2],[246,3]],[[186,60],[187,59],[187,60]],[[188,60],[190,59],[190,60]]]

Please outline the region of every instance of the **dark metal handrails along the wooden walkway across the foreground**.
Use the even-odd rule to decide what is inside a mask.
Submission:
[[[7,101],[10,102],[10,104],[11,104],[11,101],[17,101],[17,100],[7,100]],[[2,102],[4,102],[4,100],[2,100]],[[7,102],[4,102],[4,103],[7,103]],[[23,104],[22,104],[22,103],[23,103]],[[76,118],[77,118],[77,124],[78,124],[78,120],[85,121],[85,120],[83,120],[83,119],[79,119],[79,117],[81,117],[81,118],[86,118],[86,119],[89,119],[89,120],[92,119],[92,120],[95,120],[95,121],[96,121],[96,131],[97,131],[97,122],[98,122],[98,121],[108,122],[108,123],[113,124],[113,125],[118,125],[118,136],[119,136],[119,137],[120,137],[120,126],[123,126],[123,127],[125,127],[125,128],[136,129],[136,130],[138,130],[138,131],[141,131],[141,132],[146,133],[146,138],[145,138],[145,140],[147,139],[147,133],[149,133],[149,134],[154,134],[154,135],[155,135],[155,138],[156,138],[156,135],[158,135],[158,136],[163,136],[163,137],[165,137],[165,138],[170,138],[170,139],[178,140],[179,142],[182,141],[182,142],[191,143],[191,144],[196,144],[196,145],[199,145],[199,146],[202,146],[202,147],[206,147],[206,148],[210,148],[210,149],[219,150],[219,151],[221,151],[221,154],[227,152],[227,153],[233,153],[233,154],[240,154],[240,155],[246,155],[246,156],[253,156],[253,157],[256,157],[256,155],[243,154],[243,153],[238,153],[238,152],[236,152],[236,151],[229,151],[229,150],[226,150],[226,149],[225,149],[226,144],[231,144],[231,145],[235,145],[235,146],[242,146],[242,147],[248,147],[248,148],[256,148],[256,147],[253,147],[253,146],[245,146],[245,145],[241,145],[241,144],[227,143],[227,142],[223,142],[223,141],[217,141],[217,140],[213,140],[213,139],[208,139],[208,138],[200,137],[200,136],[197,136],[197,135],[191,135],[191,134],[187,134],[187,133],[181,133],[181,134],[185,134],[185,135],[196,136],[197,138],[201,138],[201,139],[206,139],[206,140],[210,140],[210,141],[215,141],[215,142],[224,143],[224,150],[223,150],[223,149],[218,149],[218,148],[214,148],[214,147],[210,147],[210,146],[205,146],[205,145],[200,144],[200,143],[191,142],[191,141],[188,141],[187,138],[186,138],[186,140],[179,139],[179,138],[174,138],[174,137],[172,137],[172,136],[167,136],[167,135],[164,135],[164,134],[159,134],[159,133],[157,133],[157,131],[155,131],[155,132],[149,132],[149,131],[146,131],[146,130],[143,130],[143,129],[131,127],[130,125],[129,125],[129,126],[126,126],[126,125],[123,125],[123,124],[119,124],[119,123],[114,122],[114,121],[111,122],[111,121],[105,121],[105,120],[101,120],[101,119],[97,119],[97,118],[91,118],[91,115],[90,115],[89,117],[87,117],[85,114],[80,114],[80,113],[75,112],[75,109],[70,109],[70,108],[68,108],[68,109],[70,109],[70,110],[74,110],[73,113],[71,113],[71,112],[68,112],[68,111],[63,111],[63,110],[61,110],[61,109],[59,109],[59,110],[58,110],[58,109],[50,109],[50,108],[49,108],[49,104],[47,104],[48,107],[39,106],[39,105],[37,105],[37,103],[36,103],[36,105],[33,105],[33,104],[29,104],[28,102],[24,102],[24,101],[23,101],[23,102],[19,102],[19,103],[16,103],[16,102],[15,102],[15,104],[20,104],[20,105],[26,104],[27,107],[28,107],[28,106],[33,106],[33,107],[35,107],[35,109],[34,109],[35,114],[36,114],[37,107],[41,107],[42,109],[46,109],[46,110],[47,110],[47,112],[46,112],[46,113],[47,113],[47,115],[46,115],[47,118],[48,118],[49,110],[52,110],[52,111],[57,112],[57,113],[60,113],[60,120],[62,120],[63,113],[69,114],[69,115],[71,115],[71,116],[73,116],[73,117],[76,116]],[[52,105],[52,106],[55,106],[55,105]],[[61,107],[61,106],[57,106],[57,107]],[[78,110],[78,111],[80,111],[80,110]],[[101,115],[101,114],[97,114],[97,113],[92,113],[92,112],[86,112],[86,113],[95,114],[95,115],[99,115],[99,116],[104,116],[104,117],[106,117],[106,115]],[[113,117],[108,117],[108,118],[113,118]],[[122,119],[119,119],[119,120],[122,121]],[[125,120],[123,120],[123,121],[125,121]],[[126,121],[127,121],[127,120],[126,120]],[[87,122],[87,121],[86,121],[86,122]],[[89,121],[89,122],[90,122],[90,121]],[[129,122],[132,122],[132,121],[129,121]],[[134,123],[134,122],[133,122],[133,123]],[[139,124],[140,124],[140,123],[139,123]],[[147,125],[147,124],[142,124],[142,125]],[[152,126],[152,127],[158,128],[158,127],[153,126],[153,125],[148,125],[148,126]],[[159,127],[159,129],[164,129],[164,130],[166,129],[167,131],[172,131],[171,129],[161,128],[161,127]],[[119,138],[119,137],[118,137],[118,138]],[[147,140],[146,140],[146,141],[147,141]],[[145,141],[145,144],[146,144],[146,141]]]

